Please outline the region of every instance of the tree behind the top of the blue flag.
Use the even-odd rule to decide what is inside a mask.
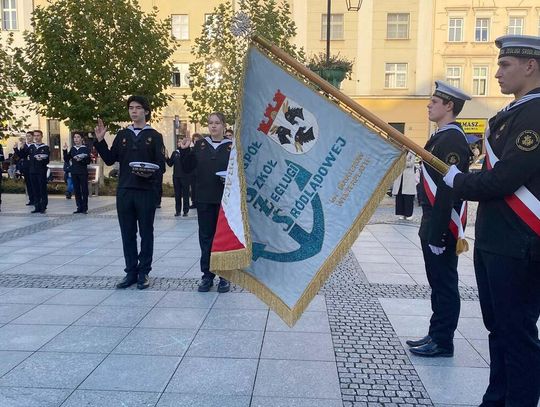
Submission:
[[[239,11],[250,17],[253,31],[303,61],[304,53],[291,44],[296,25],[286,0],[240,0]],[[214,8],[195,39],[189,66],[191,96],[184,96],[192,122],[205,123],[209,112],[221,111],[233,123],[241,69],[249,38],[231,33],[235,10],[230,0]]]

